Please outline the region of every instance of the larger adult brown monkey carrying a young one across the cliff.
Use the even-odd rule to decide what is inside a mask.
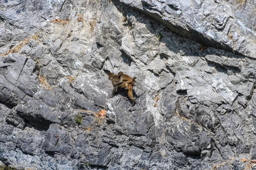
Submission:
[[[113,74],[113,73],[109,73],[108,74],[108,79],[111,80],[112,82],[112,85],[113,85],[113,91],[112,91],[112,95],[111,95],[111,98],[114,96],[114,94],[116,93],[117,91],[117,88],[126,88],[125,86],[125,82],[126,81],[123,81],[120,85],[116,85],[116,82],[119,82],[120,81],[120,78],[117,74]],[[129,96],[129,98],[132,100],[132,106],[135,105],[135,99],[134,99],[134,96],[133,96],[133,93],[132,93],[132,88],[133,88],[133,85],[134,85],[135,81],[132,82],[131,84],[128,85],[128,91],[127,91],[127,94]]]

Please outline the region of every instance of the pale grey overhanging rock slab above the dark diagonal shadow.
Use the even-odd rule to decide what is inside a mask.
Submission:
[[[256,58],[255,1],[119,0],[177,34],[208,47]]]

